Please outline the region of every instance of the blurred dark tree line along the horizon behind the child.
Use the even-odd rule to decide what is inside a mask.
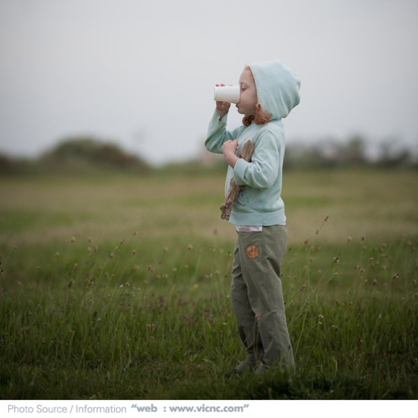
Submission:
[[[395,143],[396,141],[394,141]],[[224,170],[223,158],[211,164],[201,160],[171,162],[162,170],[191,172]],[[412,150],[385,143],[380,152],[370,157],[366,153],[366,141],[351,137],[346,142],[322,140],[314,144],[292,142],[286,146],[284,169],[311,169],[327,167],[385,167],[418,169],[417,155]],[[203,168],[202,168],[203,167]],[[126,153],[111,142],[91,137],[75,137],[61,141],[52,150],[33,160],[22,160],[0,154],[0,173],[88,173],[98,170],[132,171],[148,173],[153,170],[141,157]]]

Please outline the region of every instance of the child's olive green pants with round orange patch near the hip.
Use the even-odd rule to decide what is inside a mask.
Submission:
[[[238,232],[232,267],[231,300],[247,359],[246,368],[263,373],[273,364],[293,366],[281,290],[280,264],[286,252],[286,226]]]

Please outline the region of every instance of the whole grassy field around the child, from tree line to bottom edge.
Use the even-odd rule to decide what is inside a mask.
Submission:
[[[245,356],[221,173],[0,178],[3,399],[417,399],[417,171],[288,171],[294,373]]]

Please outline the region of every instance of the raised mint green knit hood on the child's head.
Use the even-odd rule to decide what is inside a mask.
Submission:
[[[271,120],[286,118],[299,104],[300,79],[279,60],[249,64],[263,110]]]

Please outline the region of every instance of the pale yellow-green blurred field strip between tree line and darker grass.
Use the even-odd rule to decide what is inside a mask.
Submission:
[[[167,241],[188,236],[234,239],[222,222],[224,175],[217,171],[147,176],[1,178],[1,241],[40,243],[92,236],[126,238],[133,231]],[[417,235],[417,172],[374,169],[290,171],[284,177],[291,243],[311,238],[329,216],[321,239]]]

